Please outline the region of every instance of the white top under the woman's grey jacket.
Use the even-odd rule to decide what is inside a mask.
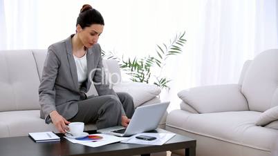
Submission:
[[[81,84],[87,79],[87,53],[83,57],[75,57],[73,55],[76,69],[77,69],[77,77],[78,77],[78,84],[81,86]]]

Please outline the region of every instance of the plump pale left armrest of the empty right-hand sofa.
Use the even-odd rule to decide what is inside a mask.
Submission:
[[[178,97],[198,113],[248,110],[238,84],[201,86],[178,92]]]

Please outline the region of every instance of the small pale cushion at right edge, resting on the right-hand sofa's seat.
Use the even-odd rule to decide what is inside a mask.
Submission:
[[[266,126],[270,122],[278,120],[278,106],[272,107],[259,115],[257,126]]]

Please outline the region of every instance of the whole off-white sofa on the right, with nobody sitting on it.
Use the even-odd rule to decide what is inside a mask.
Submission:
[[[190,88],[178,97],[180,109],[169,113],[166,130],[195,138],[197,156],[278,154],[277,49],[246,61],[239,84]]]

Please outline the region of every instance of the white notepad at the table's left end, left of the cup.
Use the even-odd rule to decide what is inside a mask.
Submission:
[[[53,132],[39,132],[39,133],[29,133],[30,137],[34,139],[35,142],[56,142],[60,141],[60,138]]]

